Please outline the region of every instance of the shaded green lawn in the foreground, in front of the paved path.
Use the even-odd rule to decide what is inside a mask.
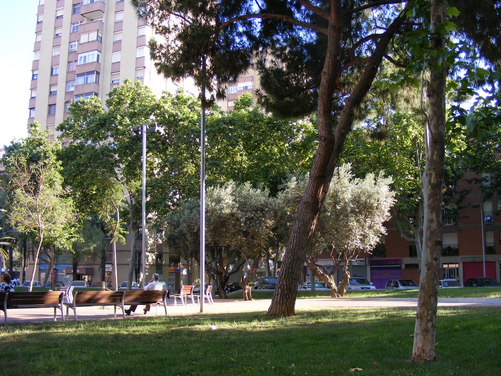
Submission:
[[[409,362],[415,310],[301,310],[12,324],[0,369],[22,375],[497,376],[499,308],[439,309],[436,354]]]

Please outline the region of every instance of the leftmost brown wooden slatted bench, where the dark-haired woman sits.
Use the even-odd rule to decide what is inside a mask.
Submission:
[[[54,308],[54,321],[57,320],[57,309],[60,309],[64,321],[63,298],[63,291],[0,292],[1,309],[4,311],[6,324],[7,310],[15,308]]]

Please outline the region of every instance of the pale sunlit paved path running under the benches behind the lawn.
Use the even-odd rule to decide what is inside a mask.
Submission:
[[[238,297],[239,298],[239,297]],[[271,299],[257,299],[252,301],[242,301],[236,299],[236,296],[225,300],[214,300],[214,305],[205,303],[203,305],[204,313],[229,313],[229,312],[249,312],[257,311],[265,314],[270,307]],[[316,310],[330,308],[370,308],[370,307],[399,307],[412,308],[416,307],[417,298],[312,298],[312,299],[297,299],[296,311],[300,310]],[[462,307],[462,306],[489,306],[501,307],[501,298],[441,298],[438,300],[439,307]],[[127,306],[126,306],[127,308]],[[65,316],[66,316],[66,309]],[[126,316],[126,319],[134,319],[136,317],[154,317],[156,308],[152,307],[150,312],[144,315],[143,310],[139,307],[136,313]],[[114,319],[113,307],[80,307],[77,310],[78,320],[94,320],[94,319]],[[200,306],[191,303],[182,306],[175,306],[170,300],[167,305],[168,316],[199,314]],[[2,318],[0,324],[4,325],[4,314],[0,312]],[[163,316],[163,307],[158,307],[158,316]],[[33,308],[33,309],[10,309],[7,311],[9,323],[15,322],[37,322],[37,321],[53,321],[53,308]],[[70,310],[66,320],[73,321],[73,311]],[[121,309],[117,309],[117,319],[122,319]],[[61,321],[61,311],[58,311],[57,321]]]

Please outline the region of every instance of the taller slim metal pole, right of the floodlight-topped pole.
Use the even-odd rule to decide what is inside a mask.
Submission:
[[[202,105],[200,115],[200,312],[205,294],[205,56],[202,57]]]

